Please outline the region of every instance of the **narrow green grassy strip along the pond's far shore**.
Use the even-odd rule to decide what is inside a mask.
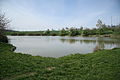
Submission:
[[[87,36],[87,37],[115,37],[120,38],[120,34],[108,33],[108,34],[98,34],[97,31],[78,31],[78,32],[70,32],[70,31],[8,31],[5,35],[10,36]]]

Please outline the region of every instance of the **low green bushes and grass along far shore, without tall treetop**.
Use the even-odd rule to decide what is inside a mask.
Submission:
[[[46,30],[46,31],[7,31],[6,35],[13,36],[119,36],[120,25],[109,26],[105,24],[99,25],[98,28],[63,28],[61,30]]]

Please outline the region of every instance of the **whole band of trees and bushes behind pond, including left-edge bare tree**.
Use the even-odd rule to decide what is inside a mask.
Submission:
[[[90,35],[120,35],[120,24],[118,25],[106,25],[102,20],[98,19],[96,28],[62,28],[61,30],[46,31],[13,31],[7,30],[10,20],[6,18],[5,14],[0,13],[0,42],[8,42],[6,35],[29,35],[29,36],[90,36]]]

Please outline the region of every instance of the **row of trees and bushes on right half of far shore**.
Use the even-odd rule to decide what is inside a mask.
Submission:
[[[96,28],[84,28],[84,27],[80,27],[80,28],[76,28],[76,27],[71,27],[71,28],[62,28],[59,31],[56,31],[56,33],[54,33],[54,35],[60,35],[60,36],[89,36],[89,35],[109,35],[109,34],[113,34],[113,35],[119,35],[120,34],[120,24],[119,25],[106,25],[103,24],[103,22],[98,19],[97,24],[96,24]],[[52,33],[55,32],[55,30],[46,30],[44,31],[43,34],[45,35],[52,35]]]

